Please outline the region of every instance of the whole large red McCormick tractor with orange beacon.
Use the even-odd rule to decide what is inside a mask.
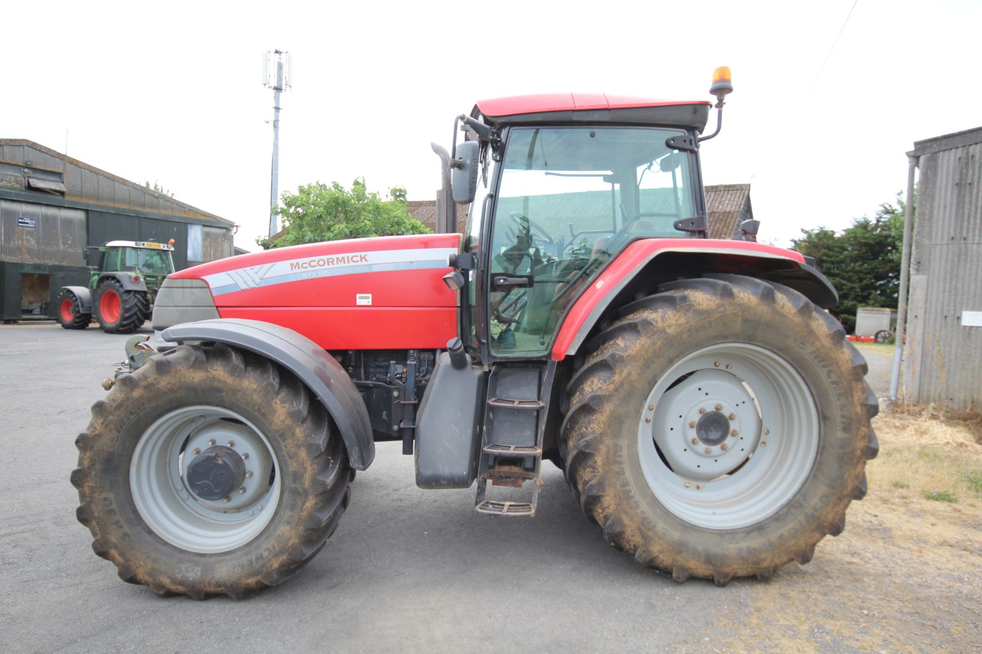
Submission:
[[[718,109],[731,90],[718,70]],[[168,277],[154,341],[77,440],[96,554],[158,594],[280,583],[337,528],[375,442],[397,440],[417,485],[476,483],[499,519],[535,515],[552,462],[608,542],[677,581],[807,563],[866,492],[877,400],[825,277],[707,237],[709,112],[479,101],[453,151],[434,146],[444,233]]]

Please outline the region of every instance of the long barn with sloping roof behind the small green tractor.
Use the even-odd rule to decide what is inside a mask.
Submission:
[[[23,139],[0,139],[0,318],[48,315],[85,285],[85,247],[175,241],[178,270],[231,257],[235,224]]]

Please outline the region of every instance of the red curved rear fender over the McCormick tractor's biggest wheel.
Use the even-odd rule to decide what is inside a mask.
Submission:
[[[552,358],[562,361],[579,346],[609,311],[666,281],[726,273],[777,281],[828,309],[839,294],[799,253],[747,241],[664,238],[627,246],[573,303],[553,344]]]

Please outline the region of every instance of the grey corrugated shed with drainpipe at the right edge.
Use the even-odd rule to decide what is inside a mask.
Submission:
[[[904,398],[982,405],[982,127],[914,143]]]

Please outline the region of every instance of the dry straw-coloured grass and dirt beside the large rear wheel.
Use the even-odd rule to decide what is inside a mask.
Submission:
[[[888,413],[874,427],[880,456],[846,531],[807,566],[738,582],[749,616],[720,625],[728,636],[705,651],[982,651],[982,491],[972,481],[982,444],[926,413]]]

